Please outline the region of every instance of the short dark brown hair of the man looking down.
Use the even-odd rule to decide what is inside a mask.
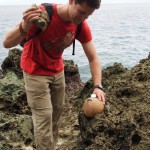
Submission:
[[[87,3],[89,7],[98,9],[100,7],[101,0],[75,0],[75,3],[76,4]]]

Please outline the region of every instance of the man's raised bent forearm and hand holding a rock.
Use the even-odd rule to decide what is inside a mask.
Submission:
[[[33,26],[33,21],[36,20],[41,13],[41,9],[32,7],[23,13],[23,21],[11,29],[5,36],[3,45],[5,48],[11,48],[18,45],[26,36],[29,29]]]

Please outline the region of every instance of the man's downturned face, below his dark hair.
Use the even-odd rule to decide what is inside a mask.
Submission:
[[[79,24],[84,21],[92,15],[95,10],[95,8],[89,7],[86,3],[76,4],[74,0],[70,0],[69,4],[69,16],[74,24]]]

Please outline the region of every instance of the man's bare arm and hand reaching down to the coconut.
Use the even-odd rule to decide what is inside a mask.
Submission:
[[[90,70],[91,70],[91,75],[93,78],[94,85],[102,84],[102,72],[101,72],[100,61],[96,54],[96,49],[94,47],[93,42],[90,41],[86,44],[83,44],[82,46],[89,60],[89,65],[90,65]],[[105,104],[105,93],[101,89],[94,88],[93,93],[95,93],[97,97],[100,100],[102,100],[102,102]]]

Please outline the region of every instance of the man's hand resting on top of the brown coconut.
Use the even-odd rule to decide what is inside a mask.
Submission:
[[[106,102],[106,94],[99,88],[94,88],[93,91],[94,94],[96,94],[97,98],[105,104]]]

